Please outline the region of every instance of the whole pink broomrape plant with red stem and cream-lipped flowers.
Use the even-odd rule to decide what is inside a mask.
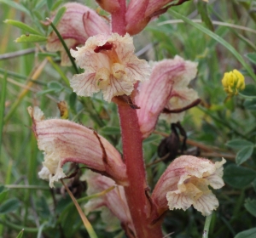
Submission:
[[[65,163],[84,164],[88,195],[115,186],[106,195],[88,201],[86,214],[108,207],[128,237],[163,237],[161,223],[166,210],[193,206],[209,216],[218,208],[218,199],[208,186],[224,186],[225,160],[213,163],[195,156],[177,157],[155,187],[148,187],[143,140],[153,133],[160,116],[169,123],[180,122],[184,111],[198,105],[198,94],[188,87],[196,76],[197,64],[176,56],[148,65],[134,54],[131,35],[166,12],[172,1],[131,0],[127,6],[125,0],[98,3],[111,14],[111,26],[92,9],[67,3],[57,29],[75,62],[84,69],[71,79],[73,91],[83,97],[101,91],[103,99],[117,105],[122,154],[93,128],[68,120],[45,120],[38,107],[29,107],[38,148],[44,151],[43,168],[38,174],[54,187],[67,176],[62,169]],[[61,51],[61,64],[69,64],[54,31],[48,37],[47,49]],[[106,208],[102,217],[107,216],[109,222],[109,214],[104,213]]]

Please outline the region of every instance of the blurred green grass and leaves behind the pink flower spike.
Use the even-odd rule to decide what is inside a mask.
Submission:
[[[92,0],[78,2],[97,8]],[[178,54],[198,62],[198,75],[191,87],[199,93],[201,105],[189,110],[182,122],[189,138],[184,153],[228,161],[226,185],[215,192],[220,206],[212,215],[210,237],[256,237],[256,3],[195,2],[174,7],[151,22],[134,37],[135,45],[140,58],[172,59]],[[50,190],[48,183],[38,178],[44,155],[32,133],[27,106],[38,105],[46,117],[60,117],[56,103],[65,100],[70,120],[94,127],[121,150],[116,106],[104,102],[101,94],[91,99],[77,97],[67,80],[73,76],[73,68],[61,67],[60,55],[46,53],[44,41],[16,43],[15,39],[27,32],[3,23],[19,20],[47,37],[50,29],[42,21],[62,3],[67,1],[0,0],[1,237],[17,237],[21,229],[24,237],[87,237],[61,184]],[[198,23],[201,19],[204,24]],[[221,79],[233,69],[244,73],[247,88],[228,99]],[[144,142],[152,186],[170,162],[154,163],[159,160],[158,145],[169,133],[170,125],[160,121]],[[86,184],[79,179],[82,172],[67,181],[81,206],[86,196]],[[125,237],[119,226],[102,223],[99,212],[89,218],[99,237]],[[163,229],[166,234],[173,233],[172,237],[201,237],[204,223],[205,218],[189,208],[168,212]]]

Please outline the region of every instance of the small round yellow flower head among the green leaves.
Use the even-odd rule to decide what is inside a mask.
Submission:
[[[230,96],[237,95],[239,91],[245,88],[244,77],[241,72],[237,70],[224,73],[222,85],[227,94]]]

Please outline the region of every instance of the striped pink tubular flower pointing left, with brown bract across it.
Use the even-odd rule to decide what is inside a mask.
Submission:
[[[49,179],[49,186],[66,175],[62,166],[70,161],[83,163],[92,170],[113,178],[118,184],[127,184],[126,167],[121,156],[108,140],[95,131],[74,122],[44,119],[38,108],[28,108],[32,129],[38,139],[39,150],[44,150],[43,169],[39,177]]]

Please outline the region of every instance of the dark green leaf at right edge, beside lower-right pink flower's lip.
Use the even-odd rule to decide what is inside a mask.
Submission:
[[[224,181],[236,189],[243,189],[256,178],[256,172],[247,167],[231,164],[224,169]]]

